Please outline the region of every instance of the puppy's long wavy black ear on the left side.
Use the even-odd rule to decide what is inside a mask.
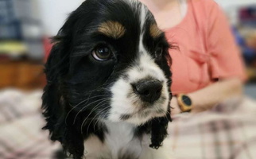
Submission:
[[[45,64],[47,85],[42,96],[42,109],[46,125],[44,130],[49,130],[52,141],[59,141],[64,150],[73,158],[83,156],[83,135],[75,126],[66,125],[67,95],[65,94],[65,80],[69,70],[69,56],[72,44],[72,27],[76,18],[72,15],[53,38],[53,47]]]

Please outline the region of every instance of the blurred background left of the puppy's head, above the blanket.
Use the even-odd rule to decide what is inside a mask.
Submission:
[[[44,86],[49,37],[82,0],[0,0],[0,89]]]

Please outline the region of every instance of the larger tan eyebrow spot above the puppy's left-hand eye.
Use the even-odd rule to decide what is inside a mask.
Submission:
[[[125,27],[117,21],[107,21],[99,25],[98,31],[107,37],[118,39],[126,33]]]

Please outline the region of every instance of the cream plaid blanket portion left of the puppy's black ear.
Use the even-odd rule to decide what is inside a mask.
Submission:
[[[24,93],[0,92],[0,158],[50,159],[56,158],[58,143],[48,140],[48,132],[41,130],[41,91]]]

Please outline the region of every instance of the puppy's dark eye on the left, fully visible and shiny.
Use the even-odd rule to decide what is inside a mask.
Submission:
[[[109,60],[112,56],[112,52],[110,48],[100,46],[92,51],[92,56],[95,58],[95,60]]]

